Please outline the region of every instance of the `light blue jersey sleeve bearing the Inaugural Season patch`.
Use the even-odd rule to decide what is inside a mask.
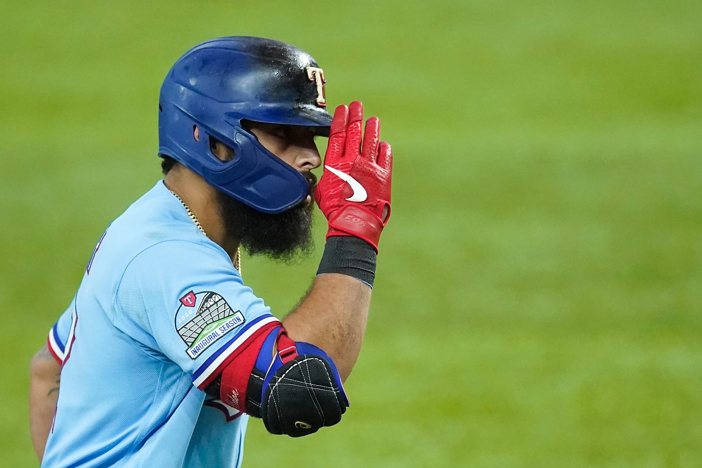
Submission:
[[[259,334],[280,325],[223,250],[170,240],[127,266],[115,294],[116,327],[211,382]]]

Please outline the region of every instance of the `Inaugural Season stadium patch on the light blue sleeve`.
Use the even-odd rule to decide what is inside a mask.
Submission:
[[[216,292],[188,292],[180,298],[176,330],[187,345],[187,355],[197,358],[208,346],[246,321],[241,311],[232,308]]]

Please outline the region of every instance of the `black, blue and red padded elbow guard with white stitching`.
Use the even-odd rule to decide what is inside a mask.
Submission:
[[[349,406],[333,360],[313,344],[293,342],[283,327],[261,334],[222,371],[220,398],[267,431],[306,436],[333,426]]]

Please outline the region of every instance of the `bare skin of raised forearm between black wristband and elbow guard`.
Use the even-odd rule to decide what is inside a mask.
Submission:
[[[319,275],[283,326],[291,339],[326,351],[346,380],[361,351],[371,291],[369,285],[349,275]]]

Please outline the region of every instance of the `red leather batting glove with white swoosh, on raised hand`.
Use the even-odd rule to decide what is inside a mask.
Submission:
[[[392,149],[378,143],[380,120],[366,120],[361,149],[363,104],[355,100],[334,111],[324,174],[314,190],[314,200],[329,221],[326,238],[352,235],[375,247],[390,218]]]

